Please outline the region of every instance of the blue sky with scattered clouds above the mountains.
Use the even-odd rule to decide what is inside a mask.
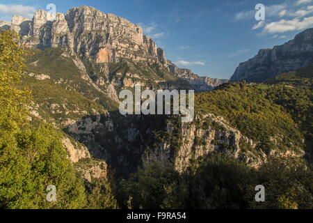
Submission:
[[[0,0],[0,18],[31,17],[49,3],[60,13],[93,6],[140,24],[177,66],[218,78],[229,78],[259,49],[285,43],[313,27],[313,0]],[[257,3],[266,7],[263,22],[255,20]]]

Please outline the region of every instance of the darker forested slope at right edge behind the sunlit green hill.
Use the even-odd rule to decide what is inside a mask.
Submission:
[[[266,84],[274,84],[269,97],[291,114],[305,135],[305,143],[312,164],[313,155],[313,66],[307,66],[295,71],[268,79]]]

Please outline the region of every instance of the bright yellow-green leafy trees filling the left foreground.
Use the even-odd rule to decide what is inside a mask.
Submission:
[[[30,93],[15,89],[24,68],[26,47],[13,31],[0,33],[0,207],[82,208],[83,182],[76,176],[51,125],[31,128],[26,117]],[[48,202],[47,185],[56,186]]]

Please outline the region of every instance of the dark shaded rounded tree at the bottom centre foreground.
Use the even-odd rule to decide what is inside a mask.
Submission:
[[[126,208],[184,208],[188,190],[171,165],[146,163],[128,180],[120,182],[120,203]]]

